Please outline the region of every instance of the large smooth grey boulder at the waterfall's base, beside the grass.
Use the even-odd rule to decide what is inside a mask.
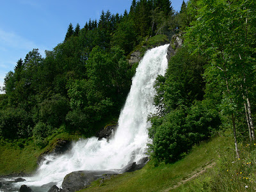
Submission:
[[[70,192],[78,191],[86,188],[93,180],[106,177],[107,175],[114,175],[116,172],[110,171],[78,171],[72,172],[65,176],[62,182],[63,190]]]

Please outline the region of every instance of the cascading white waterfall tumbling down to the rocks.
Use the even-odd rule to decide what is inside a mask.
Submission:
[[[35,177],[25,178],[28,186],[56,182],[61,186],[65,175],[77,170],[113,170],[145,157],[148,142],[147,117],[154,113],[154,81],[164,75],[168,66],[168,45],[147,51],[132,78],[131,91],[120,113],[118,129],[112,140],[89,138],[73,143],[72,150],[62,156],[47,156]]]

